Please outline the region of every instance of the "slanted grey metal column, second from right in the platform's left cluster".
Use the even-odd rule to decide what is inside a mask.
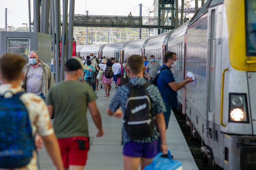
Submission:
[[[62,18],[62,40],[61,40],[61,64],[60,64],[60,81],[64,80],[64,66],[67,48],[67,5],[68,0],[63,0],[63,18]]]

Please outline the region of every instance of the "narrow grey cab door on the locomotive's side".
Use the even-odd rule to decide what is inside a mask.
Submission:
[[[215,9],[210,12],[207,61],[207,129],[208,137],[214,138],[214,92],[215,92],[215,55],[216,55],[216,22]]]

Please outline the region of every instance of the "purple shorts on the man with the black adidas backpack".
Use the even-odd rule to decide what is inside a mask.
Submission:
[[[123,146],[123,155],[130,157],[153,158],[158,153],[158,140],[152,143],[130,141]]]

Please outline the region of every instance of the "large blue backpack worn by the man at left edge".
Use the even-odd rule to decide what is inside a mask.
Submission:
[[[18,168],[30,163],[35,149],[29,114],[19,97],[0,96],[0,168]]]

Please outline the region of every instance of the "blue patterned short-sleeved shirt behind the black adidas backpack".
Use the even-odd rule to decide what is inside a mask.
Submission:
[[[143,85],[147,81],[143,77],[134,77],[130,79],[130,82],[132,83],[133,86],[136,85]],[[166,108],[162,99],[162,96],[158,90],[158,88],[155,85],[150,85],[147,87],[147,92],[149,95],[149,98],[151,100],[152,108],[153,108],[153,113],[158,114],[158,113],[164,113],[166,112]],[[130,90],[126,86],[121,86],[120,88],[117,89],[115,96],[113,97],[109,109],[111,112],[115,112],[120,106],[123,110],[123,114],[125,114],[125,103],[127,99],[129,98]],[[155,140],[157,140],[159,137],[159,132],[156,128],[154,127],[154,135],[144,138],[144,139],[136,139],[133,140],[138,143],[151,143]],[[122,129],[122,143],[125,145],[126,143],[130,142],[131,139],[127,135],[127,132],[125,131],[125,128],[123,127]]]

